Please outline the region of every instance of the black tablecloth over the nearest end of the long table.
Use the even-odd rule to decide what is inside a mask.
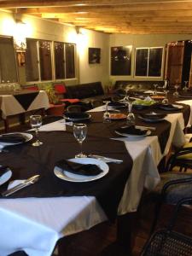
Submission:
[[[103,137],[88,136],[83,148],[86,154],[102,154],[123,160],[122,164],[110,163],[105,177],[88,183],[70,183],[55,177],[54,167],[58,160],[73,158],[79,153],[79,144],[71,132],[40,132],[41,147],[32,147],[31,142],[9,148],[2,154],[0,164],[13,171],[12,179],[24,179],[40,174],[38,183],[21,189],[9,198],[55,197],[73,195],[96,196],[110,220],[117,216],[119,201],[129,177],[132,160],[124,143]],[[1,187],[3,191],[5,185]]]

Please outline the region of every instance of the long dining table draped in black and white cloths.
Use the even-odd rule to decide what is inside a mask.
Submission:
[[[126,119],[104,123],[105,106],[90,110],[90,118],[83,121],[88,127],[84,153],[122,162],[108,161],[108,173],[88,182],[73,182],[55,175],[59,162],[74,159],[79,153],[73,124],[67,119],[44,119],[39,128],[43,142],[40,147],[32,147],[35,136],[34,131],[29,130],[26,134],[31,134],[32,139],[2,148],[0,166],[8,166],[12,175],[0,186],[1,194],[28,177],[40,175],[40,178],[12,195],[1,195],[0,255],[19,250],[30,256],[51,255],[62,237],[89,230],[106,220],[113,223],[117,216],[137,212],[143,189],[154,189],[160,182],[157,167],[160,160],[172,144],[181,147],[185,143],[183,129],[191,125],[192,104],[185,104],[183,99],[177,104],[182,107],[173,111],[157,105],[134,109],[136,125],[150,131],[141,137],[117,133],[119,127],[126,125]],[[127,113],[127,108],[118,111]],[[166,113],[166,117],[157,123],[146,123],[140,114],[149,111]]]

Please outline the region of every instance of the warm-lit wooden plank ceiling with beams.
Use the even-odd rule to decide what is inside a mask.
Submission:
[[[0,9],[108,33],[192,33],[187,0],[0,0]]]

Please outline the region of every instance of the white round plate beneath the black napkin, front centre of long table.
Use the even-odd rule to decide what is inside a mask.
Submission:
[[[94,181],[96,179],[99,179],[103,176],[105,176],[108,173],[109,167],[108,164],[106,164],[102,160],[96,160],[94,158],[73,158],[70,159],[69,161],[72,161],[74,163],[80,163],[80,164],[90,164],[90,165],[96,165],[99,166],[100,169],[102,170],[101,173],[95,176],[87,176],[87,175],[79,175],[79,174],[74,174],[72,172],[67,172],[65,170],[62,170],[60,167],[55,166],[54,168],[54,173],[56,177],[59,177],[61,179],[64,179],[68,182],[73,182],[73,183],[85,183],[85,182],[90,182]]]

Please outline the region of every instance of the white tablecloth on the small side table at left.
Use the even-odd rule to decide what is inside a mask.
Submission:
[[[13,95],[3,95],[1,96],[1,106],[2,117],[6,119],[9,115],[14,115],[18,113],[25,113],[26,111],[31,111],[39,108],[49,108],[49,98],[45,90],[40,90],[38,96],[35,97],[34,101],[31,103],[29,108],[25,109],[20,105]]]

